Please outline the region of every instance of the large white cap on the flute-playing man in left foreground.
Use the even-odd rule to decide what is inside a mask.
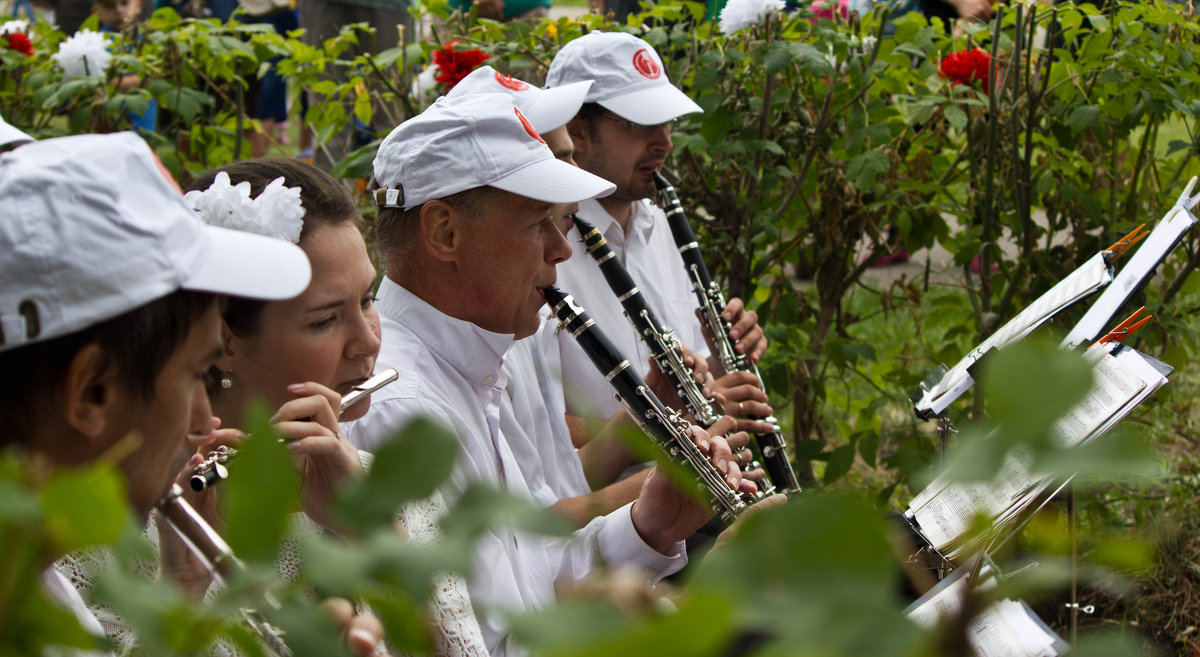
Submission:
[[[312,275],[295,245],[204,224],[132,132],[0,155],[0,351],[180,289],[290,299]]]

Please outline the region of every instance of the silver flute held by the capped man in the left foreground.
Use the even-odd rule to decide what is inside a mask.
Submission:
[[[170,490],[158,502],[158,512],[215,579],[222,583],[229,581],[245,571],[245,565],[233,554],[229,543],[224,542],[212,525],[184,500],[182,494],[184,489],[178,483],[172,484]],[[264,595],[264,601],[275,609],[280,608],[278,601],[270,593]],[[257,609],[246,608],[240,611],[246,626],[271,653],[278,657],[293,657],[292,649],[283,640],[282,629],[268,622]]]

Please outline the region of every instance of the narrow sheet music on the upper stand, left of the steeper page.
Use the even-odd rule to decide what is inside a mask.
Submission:
[[[918,412],[937,415],[946,410],[964,392],[974,384],[967,368],[974,364],[991,349],[1000,349],[1018,342],[1031,331],[1044,324],[1056,313],[1084,299],[1088,294],[1112,281],[1112,269],[1104,259],[1104,252],[1097,253],[1069,276],[1050,288],[1033,303],[1021,311],[1015,318],[988,337],[979,346],[971,350],[932,388],[925,391],[917,402]]]

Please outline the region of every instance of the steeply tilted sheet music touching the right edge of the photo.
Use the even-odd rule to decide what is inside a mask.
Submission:
[[[1109,289],[1096,300],[1096,303],[1084,313],[1084,317],[1062,340],[1063,349],[1074,349],[1090,343],[1102,334],[1111,324],[1126,301],[1154,275],[1183,235],[1196,223],[1188,210],[1196,199],[1189,198],[1196,179],[1188,182],[1180,200],[1166,212],[1163,221],[1150,233],[1150,236],[1138,247],[1138,252],[1121,267],[1121,273],[1112,281]]]

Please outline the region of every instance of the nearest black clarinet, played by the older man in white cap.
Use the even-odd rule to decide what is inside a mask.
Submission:
[[[697,487],[708,495],[713,511],[721,520],[730,522],[745,511],[746,502],[730,489],[725,477],[692,442],[688,421],[678,411],[668,409],[650,391],[629,360],[608,342],[587,312],[575,305],[571,295],[563,294],[558,288],[546,288],[545,295],[551,312],[562,323],[559,330],[570,331],[578,340],[592,363],[612,384],[617,400],[654,444],[667,457],[683,463],[696,474]]]

